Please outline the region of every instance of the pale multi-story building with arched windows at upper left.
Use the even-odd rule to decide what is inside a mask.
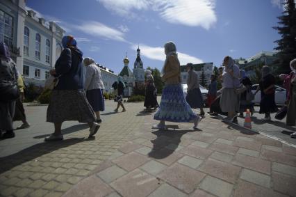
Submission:
[[[0,3],[0,42],[10,48],[17,70],[24,74],[27,84],[44,86],[49,70],[62,52],[64,33],[58,24],[47,23],[33,10],[26,10],[24,0]]]

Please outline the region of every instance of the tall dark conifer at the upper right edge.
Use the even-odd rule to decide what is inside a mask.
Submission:
[[[277,17],[279,26],[274,26],[281,35],[281,39],[274,41],[277,47],[274,49],[279,51],[278,60],[274,62],[277,73],[289,73],[290,61],[296,57],[296,8],[294,0],[286,0],[283,5],[285,11],[283,15]]]

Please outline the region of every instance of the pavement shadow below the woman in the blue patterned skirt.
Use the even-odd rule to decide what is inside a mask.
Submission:
[[[149,157],[154,159],[164,159],[169,157],[172,153],[178,148],[179,143],[181,142],[181,137],[183,134],[188,132],[199,132],[201,129],[184,129],[184,130],[164,130],[159,129],[152,134],[155,134],[157,137],[154,140],[151,140],[153,143],[153,148],[151,152],[148,153]],[[165,148],[165,146],[170,145],[170,148]]]

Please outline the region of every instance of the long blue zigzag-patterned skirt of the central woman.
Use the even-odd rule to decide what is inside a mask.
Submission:
[[[154,115],[154,119],[175,123],[190,123],[196,117],[197,115],[185,100],[181,84],[165,85],[161,96],[161,104]]]

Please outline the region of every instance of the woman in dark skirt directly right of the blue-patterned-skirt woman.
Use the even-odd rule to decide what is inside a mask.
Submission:
[[[199,81],[197,74],[193,70],[193,64],[188,63],[186,65],[186,70],[188,72],[186,101],[188,102],[191,108],[199,108],[200,115],[204,116],[204,100],[202,98],[202,93],[199,89]]]

